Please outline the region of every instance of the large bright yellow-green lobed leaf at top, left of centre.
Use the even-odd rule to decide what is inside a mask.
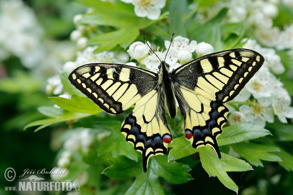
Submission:
[[[110,50],[118,44],[125,49],[138,37],[140,29],[144,29],[155,22],[146,18],[137,17],[134,14],[133,5],[121,1],[115,3],[90,0],[78,1],[96,8],[92,13],[85,14],[79,22],[89,25],[111,26],[111,29],[112,27],[115,29],[88,40],[88,44],[90,45],[99,45],[96,52]],[[111,14],[109,14],[109,10],[111,10]],[[159,20],[163,18],[161,17]]]

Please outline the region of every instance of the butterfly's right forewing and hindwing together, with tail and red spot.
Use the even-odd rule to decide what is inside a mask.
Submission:
[[[263,61],[254,51],[234,49],[195,59],[172,72],[185,134],[194,148],[210,145],[221,157],[216,138],[227,122],[224,103],[239,94]]]

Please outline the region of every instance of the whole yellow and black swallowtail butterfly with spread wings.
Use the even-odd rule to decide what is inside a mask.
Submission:
[[[234,49],[195,59],[171,72],[164,61],[158,73],[124,64],[86,64],[69,80],[109,114],[120,114],[135,103],[121,132],[142,153],[146,172],[149,157],[167,153],[172,136],[166,110],[175,117],[176,101],[192,146],[209,145],[221,157],[216,138],[227,122],[224,103],[239,94],[263,61],[254,51]]]

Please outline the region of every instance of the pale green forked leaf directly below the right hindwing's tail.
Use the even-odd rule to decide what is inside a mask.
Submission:
[[[238,192],[238,186],[228,176],[227,172],[244,172],[253,170],[251,165],[233,156],[222,154],[218,158],[213,149],[209,146],[198,148],[203,168],[209,176],[216,176],[230,190]]]

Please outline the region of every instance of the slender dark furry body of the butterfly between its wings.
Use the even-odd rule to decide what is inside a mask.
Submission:
[[[162,64],[159,65],[158,71],[159,79],[159,92],[165,96],[165,105],[167,105],[170,117],[174,118],[176,115],[176,104],[174,90],[171,88],[171,75],[169,73],[169,64],[165,61],[162,61]]]

